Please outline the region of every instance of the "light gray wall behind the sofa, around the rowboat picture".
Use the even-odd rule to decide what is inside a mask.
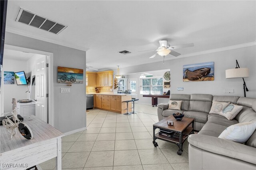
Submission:
[[[157,56],[160,57],[160,56]],[[168,56],[170,57],[170,55]],[[244,96],[242,79],[226,79],[225,70],[236,67],[236,59],[240,67],[250,69],[250,77],[244,78],[249,89],[246,97],[256,98],[256,46],[219,51],[191,57],[171,59],[164,62],[135,65],[121,68],[122,74],[170,69],[171,93],[193,94],[207,93],[212,95]],[[214,81],[183,82],[183,65],[214,61]],[[177,91],[177,87],[184,87],[184,91]],[[234,89],[234,93],[224,93],[224,89]]]

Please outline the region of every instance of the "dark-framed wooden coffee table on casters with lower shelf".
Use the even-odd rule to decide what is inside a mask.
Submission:
[[[173,121],[174,125],[169,126],[167,124],[167,121]],[[192,127],[189,127],[189,125],[192,124]],[[168,130],[171,131],[172,134],[170,136],[164,136],[162,134],[155,134],[156,128],[160,128],[162,130]],[[171,115],[169,117],[166,117],[162,121],[159,121],[158,123],[155,123],[153,125],[153,144],[154,146],[158,146],[156,139],[164,140],[167,142],[171,142],[176,144],[179,147],[179,150],[177,152],[178,155],[181,155],[182,145],[185,142],[185,140],[188,138],[188,135],[194,133],[194,119],[183,117],[181,121],[176,121],[176,119]]]

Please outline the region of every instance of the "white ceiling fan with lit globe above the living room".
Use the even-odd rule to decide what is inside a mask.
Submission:
[[[170,44],[167,42],[167,40],[160,40],[159,44],[160,44],[160,47],[158,47],[158,49],[146,50],[146,51],[157,51],[154,55],[152,55],[149,58],[154,58],[154,57],[156,57],[157,54],[162,57],[165,57],[168,54],[177,57],[181,54],[176,51],[173,51],[173,49],[194,47],[194,43],[186,43],[186,44],[182,44],[182,45],[170,46]],[[142,52],[142,51],[139,51],[139,52]]]

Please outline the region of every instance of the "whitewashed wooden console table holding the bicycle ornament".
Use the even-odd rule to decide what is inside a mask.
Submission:
[[[61,137],[64,134],[34,115],[24,116],[23,122],[31,128],[34,139],[27,140],[17,130],[10,140],[10,134],[0,126],[0,169],[24,170],[56,157],[56,169],[61,170]],[[27,164],[27,167],[6,167],[8,164]]]

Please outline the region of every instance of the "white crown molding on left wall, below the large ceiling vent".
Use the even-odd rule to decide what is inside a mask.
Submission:
[[[37,39],[37,40],[42,40],[42,41],[45,41],[45,42],[55,43],[55,44],[58,44],[58,45],[63,45],[63,46],[66,46],[66,47],[79,49],[79,50],[82,50],[82,51],[88,51],[88,49],[89,49],[89,48],[86,48],[86,47],[80,47],[78,45],[72,45],[72,44],[69,44],[69,43],[64,43],[64,42],[52,40],[50,38],[45,38],[45,37],[42,37],[42,36],[38,36],[36,34],[24,32],[24,31],[17,30],[15,28],[11,28],[11,27],[8,27],[8,26],[6,26],[6,32],[10,32],[10,33],[18,34],[18,35],[21,35],[21,36],[34,38],[34,39]]]

